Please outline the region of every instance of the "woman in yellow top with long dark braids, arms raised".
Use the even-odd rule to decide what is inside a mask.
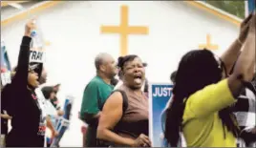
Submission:
[[[242,47],[234,73],[224,79]],[[188,147],[236,147],[239,128],[230,106],[244,84],[251,81],[254,66],[255,14],[245,19],[238,39],[221,59],[207,50],[186,53],[167,110],[168,143],[177,147],[182,132]]]

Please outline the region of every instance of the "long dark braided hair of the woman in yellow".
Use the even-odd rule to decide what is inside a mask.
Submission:
[[[171,146],[177,147],[180,139],[181,122],[185,107],[184,98],[188,98],[205,86],[222,80],[223,69],[208,50],[195,50],[186,53],[182,58],[176,74],[173,89],[173,101],[166,110],[164,135]],[[188,76],[189,75],[189,76]],[[237,136],[237,126],[229,108],[219,112],[223,126]],[[224,134],[225,135],[225,134]]]

